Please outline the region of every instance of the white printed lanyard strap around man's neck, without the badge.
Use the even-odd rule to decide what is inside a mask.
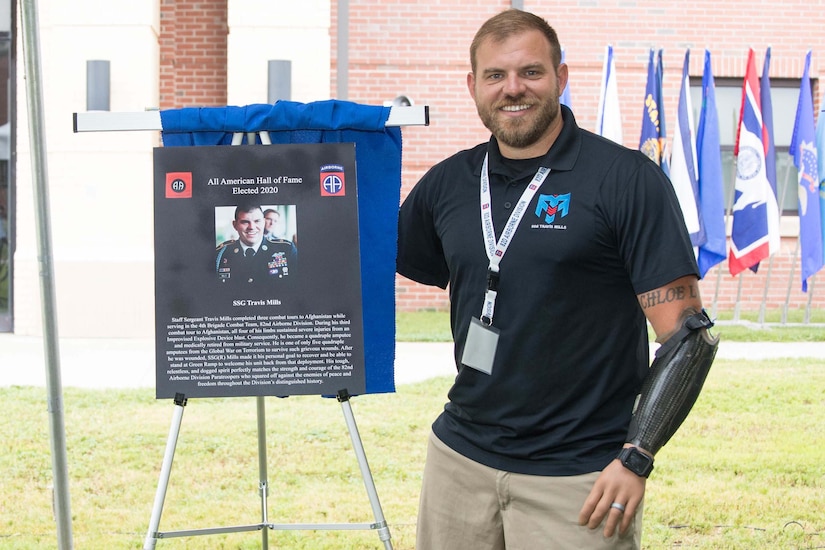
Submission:
[[[496,306],[496,295],[498,293],[498,273],[499,264],[507,252],[507,247],[510,246],[510,241],[524,217],[524,212],[527,210],[527,205],[533,200],[536,191],[539,190],[541,184],[550,173],[549,168],[540,167],[533,176],[533,180],[527,185],[527,189],[521,194],[516,207],[510,213],[510,218],[507,220],[507,225],[504,226],[504,231],[501,232],[501,237],[496,242],[496,231],[493,227],[493,212],[492,200],[490,199],[490,175],[487,172],[487,158],[484,155],[484,164],[481,165],[481,231],[484,235],[485,248],[487,250],[487,258],[490,260],[490,265],[487,268],[487,291],[484,294],[484,307],[481,310],[481,321],[485,325],[493,324],[493,310]]]

